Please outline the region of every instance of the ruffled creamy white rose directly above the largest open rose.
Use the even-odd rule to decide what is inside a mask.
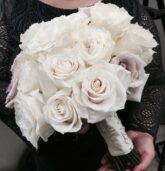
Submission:
[[[88,64],[100,59],[106,61],[111,59],[115,43],[107,30],[88,25],[73,32],[72,37],[77,42],[77,48]]]

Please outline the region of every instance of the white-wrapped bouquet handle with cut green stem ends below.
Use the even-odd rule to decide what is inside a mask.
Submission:
[[[116,113],[97,123],[97,128],[107,144],[115,171],[133,168],[140,162],[140,156]]]

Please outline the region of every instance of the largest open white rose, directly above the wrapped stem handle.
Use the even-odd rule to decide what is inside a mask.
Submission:
[[[110,112],[123,109],[130,81],[130,72],[104,61],[86,69],[73,82],[73,97],[88,109],[81,117],[94,123],[105,119]]]

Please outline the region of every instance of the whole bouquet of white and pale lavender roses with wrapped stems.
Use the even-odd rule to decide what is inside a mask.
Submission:
[[[149,76],[144,67],[157,43],[131,20],[124,8],[99,2],[35,23],[21,35],[6,107],[14,107],[16,123],[33,146],[54,131],[78,132],[86,120],[96,123],[115,170],[139,162],[116,112],[126,100],[141,101]]]

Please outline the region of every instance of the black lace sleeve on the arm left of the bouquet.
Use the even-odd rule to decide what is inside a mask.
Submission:
[[[9,61],[12,53],[9,47],[9,26],[7,24],[7,16],[3,13],[5,12],[4,9],[5,6],[0,0],[0,119],[32,148],[32,145],[22,136],[19,127],[16,125],[14,110],[5,107],[6,90],[10,82]]]

